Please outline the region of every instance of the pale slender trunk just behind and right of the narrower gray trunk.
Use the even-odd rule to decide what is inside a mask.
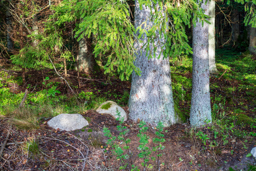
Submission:
[[[209,3],[209,72],[218,73],[215,63],[215,1]]]

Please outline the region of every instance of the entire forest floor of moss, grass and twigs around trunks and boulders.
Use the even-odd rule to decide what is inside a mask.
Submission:
[[[140,170],[256,170],[256,161],[248,155],[256,146],[256,64],[251,69],[255,60],[237,57],[229,63],[229,59],[223,60],[223,55],[219,57],[219,74],[210,78],[213,124],[198,129],[191,128],[188,121],[191,68],[189,64],[186,66],[186,61],[172,63],[174,67],[179,66],[171,67],[175,71],[172,84],[178,111],[184,114],[185,121],[161,131],[165,148],[156,152],[153,148],[159,144],[153,139],[158,129],[145,125],[148,128],[145,135],[149,137],[146,146],[152,152],[146,155],[148,167],[143,167],[144,158],[138,157],[141,152],[137,136],[141,131],[139,121],[121,124],[125,130],[129,129],[125,136],[131,140],[129,150],[124,149],[125,143],[121,140],[115,143],[124,149],[121,154],[131,157],[117,158],[103,128],[118,137],[119,122],[94,110],[100,103],[113,100],[128,113],[130,82],[102,74],[82,75],[79,88],[76,72],[70,70],[65,79],[78,94],[74,96],[54,70],[27,70],[26,86],[23,86],[21,70],[0,68],[0,145],[10,133],[0,159],[0,170],[119,170],[125,164],[126,170],[131,170],[132,165]],[[191,64],[191,60],[189,62]],[[241,70],[247,74],[242,76]],[[30,92],[26,106],[18,109],[25,89]],[[10,103],[16,105],[8,105]],[[80,113],[90,125],[72,132],[48,127],[47,121],[60,113]]]

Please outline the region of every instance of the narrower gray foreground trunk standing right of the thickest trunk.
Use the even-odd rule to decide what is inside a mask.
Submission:
[[[209,1],[202,2],[202,9],[209,14]],[[200,127],[212,123],[209,91],[208,31],[209,25],[197,21],[193,28],[193,73],[190,124]]]

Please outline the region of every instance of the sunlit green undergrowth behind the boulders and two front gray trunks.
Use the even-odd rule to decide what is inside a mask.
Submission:
[[[210,93],[212,102],[213,120],[226,120],[234,115],[237,124],[250,125],[256,112],[256,62],[254,57],[240,54],[227,48],[216,50],[217,75],[211,76]],[[192,56],[183,55],[170,59],[172,78],[172,90],[174,109],[182,122],[189,119],[190,101],[192,96]],[[12,76],[5,71],[0,71],[0,115],[9,115],[18,108],[24,93],[15,91],[22,85],[21,76]],[[76,95],[67,96],[60,92],[60,82],[45,77],[41,83],[40,91],[33,91],[34,87],[26,85],[30,93],[25,102],[29,113],[43,113],[43,107],[51,108],[49,116],[58,113],[81,113],[88,109],[95,109],[107,100],[116,101],[117,104],[127,105],[129,91],[116,93],[109,89],[102,92],[101,89],[79,91]],[[107,85],[101,83],[103,86]],[[77,89],[77,86],[71,87]],[[36,111],[36,110],[39,110]],[[24,111],[24,112],[27,112]],[[249,116],[248,113],[250,113]],[[38,114],[36,114],[37,116]],[[9,115],[10,116],[10,115]],[[17,116],[15,115],[15,119]],[[21,118],[18,118],[21,119]],[[34,122],[30,118],[30,123]]]

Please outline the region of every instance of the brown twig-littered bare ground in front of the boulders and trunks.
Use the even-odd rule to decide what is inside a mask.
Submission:
[[[10,132],[10,137],[3,152],[0,170],[119,170],[121,162],[111,152],[113,148],[105,144],[107,137],[103,133],[103,127],[107,127],[114,136],[118,136],[118,122],[95,111],[87,111],[83,116],[90,118],[90,125],[73,132],[48,127],[49,119],[40,124],[40,129],[24,131],[11,126],[7,119],[2,118],[0,142],[5,140],[7,132]],[[131,139],[129,146],[133,153],[132,162],[140,166],[143,160],[136,157],[140,152],[136,148],[139,146],[139,125],[132,121],[125,122],[125,125],[130,130],[127,137]],[[148,127],[147,146],[152,148],[156,146],[152,143],[156,130],[150,125]],[[208,127],[197,131],[209,137],[212,133]],[[187,123],[175,124],[165,128],[162,133],[165,139],[162,145],[165,149],[161,152],[160,170],[229,170],[230,167],[234,170],[249,170],[249,165],[252,167],[256,162],[254,158],[246,157],[256,144],[253,137],[227,137],[226,140],[230,143],[210,148],[209,142],[214,140],[207,141],[204,145]],[[157,153],[153,152],[152,156],[157,156]],[[150,160],[149,164],[153,168],[147,170],[158,170],[157,161]],[[139,168],[142,170],[141,166]]]

